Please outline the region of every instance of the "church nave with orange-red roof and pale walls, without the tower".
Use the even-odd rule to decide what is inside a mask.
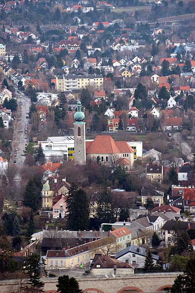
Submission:
[[[95,161],[99,159],[105,164],[113,159],[117,163],[120,159],[120,165],[123,161],[125,164],[128,162],[130,169],[134,164],[134,150],[125,141],[114,141],[109,135],[97,135],[94,140],[86,140],[86,158]]]

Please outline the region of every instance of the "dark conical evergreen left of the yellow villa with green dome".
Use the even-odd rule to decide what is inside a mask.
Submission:
[[[36,211],[38,206],[39,194],[37,193],[35,181],[29,179],[26,185],[26,188],[23,193],[24,197],[24,206],[32,208],[33,211]]]

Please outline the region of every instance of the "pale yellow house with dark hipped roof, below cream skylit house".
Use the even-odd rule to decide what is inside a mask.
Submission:
[[[147,199],[151,198],[154,202],[154,204],[163,204],[164,201],[164,192],[152,189],[152,188],[141,188],[141,204],[146,205]]]

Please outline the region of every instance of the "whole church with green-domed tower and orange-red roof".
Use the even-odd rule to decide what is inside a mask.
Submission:
[[[94,140],[85,140],[85,118],[81,103],[77,103],[74,115],[74,163],[85,165],[86,160],[119,165],[129,170],[134,164],[134,150],[125,141],[114,141],[110,135],[97,135]]]

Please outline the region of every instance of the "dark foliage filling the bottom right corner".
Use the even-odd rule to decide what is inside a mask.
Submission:
[[[172,286],[171,293],[194,293],[195,292],[195,258],[187,262],[183,275],[178,275]]]

